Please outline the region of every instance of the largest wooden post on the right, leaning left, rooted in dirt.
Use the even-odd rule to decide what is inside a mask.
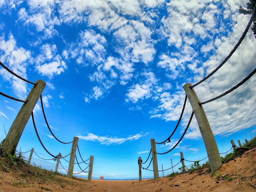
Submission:
[[[186,83],[184,85],[184,90],[186,92],[186,95],[195,114],[196,120],[198,122],[198,126],[202,134],[204,145],[207,151],[211,171],[217,171],[222,167],[220,153],[215,138],[213,136],[210,124],[208,122],[207,116],[204,112],[204,109],[202,105],[198,104],[200,103],[200,100],[198,99],[198,96],[195,94],[195,90],[193,88],[190,88],[190,86],[190,83]]]

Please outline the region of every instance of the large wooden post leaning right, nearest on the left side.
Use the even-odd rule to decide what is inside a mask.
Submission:
[[[36,83],[37,85],[34,85],[26,98],[27,103],[24,103],[20,108],[18,115],[13,121],[8,134],[4,139],[2,151],[6,154],[15,154],[20,137],[25,129],[25,126],[27,125],[27,122],[29,121],[38,98],[45,88],[46,83],[43,80],[37,80]]]

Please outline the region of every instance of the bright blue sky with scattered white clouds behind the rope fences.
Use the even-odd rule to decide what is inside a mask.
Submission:
[[[150,138],[165,140],[180,117],[183,85],[209,74],[236,45],[249,21],[238,13],[246,2],[0,0],[0,60],[24,78],[46,82],[42,96],[48,123],[61,141],[79,137],[83,159],[94,155],[93,178],[137,178],[137,159],[146,160]],[[240,82],[255,68],[255,58],[255,39],[249,31],[229,61],[195,87],[200,100]],[[255,135],[255,83],[252,77],[231,94],[204,105],[220,152],[229,150],[230,139],[243,142]],[[1,92],[25,99],[31,87],[0,68]],[[1,96],[1,140],[21,106]],[[187,103],[171,143],[157,145],[158,152],[177,142],[191,112]],[[34,114],[47,149],[68,154],[71,144],[50,136],[40,103]],[[29,120],[17,149],[25,152],[31,147],[50,158]],[[189,160],[206,156],[195,118],[175,150],[158,156],[159,169],[161,164],[171,167],[171,159],[176,164],[180,151]],[[54,161],[35,155],[32,160],[55,167]],[[78,167],[74,170],[79,172]],[[142,175],[153,173],[143,170]]]

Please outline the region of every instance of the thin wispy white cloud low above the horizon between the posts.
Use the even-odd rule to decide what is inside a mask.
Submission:
[[[143,136],[146,136],[148,133],[138,133],[135,135],[128,136],[126,138],[118,138],[118,137],[111,137],[111,136],[97,136],[92,133],[87,134],[87,136],[77,136],[80,139],[83,139],[85,141],[98,141],[102,145],[111,145],[111,144],[122,144],[126,141],[134,141],[137,140]]]

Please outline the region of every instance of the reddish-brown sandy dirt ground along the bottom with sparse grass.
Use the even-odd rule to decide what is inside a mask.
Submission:
[[[102,181],[68,179],[61,176],[63,182],[40,183],[29,179],[20,179],[11,172],[0,172],[0,192],[233,192],[256,191],[256,149],[245,152],[228,163],[214,175],[207,170],[193,174],[180,174],[173,178],[164,177],[154,181],[146,179],[134,181]]]

